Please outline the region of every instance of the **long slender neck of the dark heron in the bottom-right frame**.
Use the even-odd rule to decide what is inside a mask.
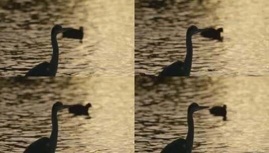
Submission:
[[[186,141],[188,152],[192,152],[194,143],[194,119],[193,119],[193,112],[190,111],[188,111],[188,134]]]

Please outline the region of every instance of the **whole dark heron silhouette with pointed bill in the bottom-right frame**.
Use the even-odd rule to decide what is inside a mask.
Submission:
[[[183,138],[176,139],[166,145],[161,153],[191,153],[194,143],[194,119],[193,113],[201,109],[208,108],[207,106],[199,106],[197,103],[192,103],[188,108],[188,134],[186,140]]]

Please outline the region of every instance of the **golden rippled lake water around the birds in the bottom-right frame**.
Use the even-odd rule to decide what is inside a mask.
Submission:
[[[268,152],[268,78],[171,78],[135,80],[135,152],[160,152],[186,138],[187,109],[227,105],[227,121],[209,110],[194,114],[193,152]]]

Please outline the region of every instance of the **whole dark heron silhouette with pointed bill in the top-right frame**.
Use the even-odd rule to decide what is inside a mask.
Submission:
[[[192,36],[194,34],[206,31],[207,29],[198,29],[196,26],[191,26],[186,34],[187,54],[184,62],[175,61],[169,66],[165,67],[160,73],[159,77],[188,77],[192,68],[193,61],[193,43]]]

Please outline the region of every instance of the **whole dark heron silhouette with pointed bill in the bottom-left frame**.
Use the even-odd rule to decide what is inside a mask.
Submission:
[[[57,146],[58,138],[58,121],[57,121],[57,112],[68,108],[68,105],[63,105],[61,102],[56,102],[52,106],[51,110],[51,122],[52,122],[52,131],[50,137],[42,137],[32,144],[30,144],[24,151],[24,153],[54,153]]]

